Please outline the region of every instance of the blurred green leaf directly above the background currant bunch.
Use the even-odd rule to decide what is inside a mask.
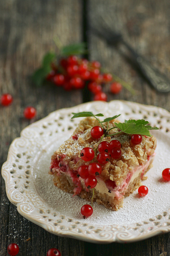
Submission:
[[[87,53],[87,49],[86,49],[86,43],[82,42],[82,43],[77,43],[77,44],[70,44],[67,46],[64,46],[61,49],[61,56],[69,56],[69,55],[79,55],[79,54],[85,54]]]

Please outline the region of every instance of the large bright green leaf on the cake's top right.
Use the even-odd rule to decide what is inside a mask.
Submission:
[[[122,132],[127,134],[140,134],[151,136],[149,130],[158,130],[158,127],[152,127],[148,121],[142,120],[125,120],[124,123],[116,123],[115,125],[119,128]]]

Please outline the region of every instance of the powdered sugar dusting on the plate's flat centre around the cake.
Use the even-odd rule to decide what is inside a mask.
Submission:
[[[88,219],[83,219],[80,214],[82,205],[86,202],[78,196],[63,192],[53,184],[52,177],[48,174],[51,154],[56,149],[56,143],[42,152],[35,168],[35,187],[39,196],[54,212],[64,214],[67,218],[93,225],[125,225],[141,222],[166,211],[170,206],[170,182],[162,180],[162,170],[170,167],[170,138],[160,131],[154,131],[157,138],[156,156],[153,167],[148,172],[148,179],[143,182],[148,188],[147,196],[141,198],[137,190],[125,198],[124,206],[118,211],[106,209],[94,203],[94,213]],[[65,137],[60,138],[66,140]],[[164,150],[166,148],[166,150]]]

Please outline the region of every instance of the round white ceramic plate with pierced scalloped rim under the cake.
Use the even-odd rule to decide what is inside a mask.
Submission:
[[[83,219],[82,198],[72,197],[53,185],[48,174],[51,154],[72,134],[80,118],[72,112],[92,111],[105,117],[121,114],[120,120],[148,120],[157,138],[156,157],[148,179],[147,196],[137,191],[125,198],[124,206],[114,212],[94,203],[90,218]],[[88,242],[134,242],[170,231],[170,182],[162,180],[162,170],[170,168],[170,113],[162,108],[134,102],[88,102],[57,110],[26,127],[9,149],[2,166],[6,194],[18,212],[45,230]]]

